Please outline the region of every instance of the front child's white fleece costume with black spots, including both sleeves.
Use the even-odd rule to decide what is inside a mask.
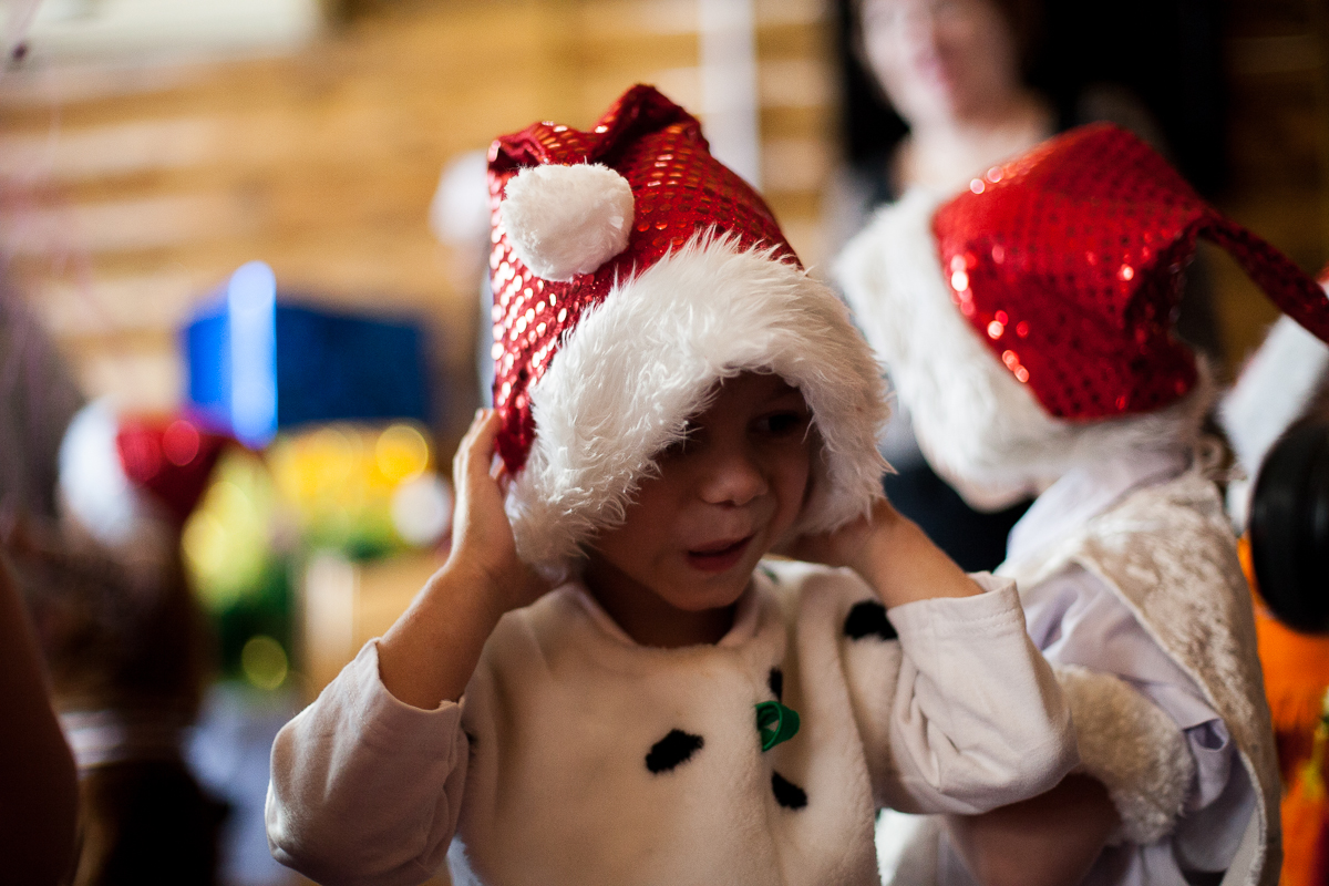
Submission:
[[[731,632],[680,650],[566,584],[437,711],[387,692],[371,643],[274,744],[274,853],[328,885],[417,883],[449,841],[459,886],[876,883],[877,808],[982,812],[1075,764],[1013,584],[977,580],[888,619],[851,573],[768,562]],[[779,697],[801,728],[763,752]]]

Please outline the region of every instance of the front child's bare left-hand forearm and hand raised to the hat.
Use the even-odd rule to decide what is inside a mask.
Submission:
[[[379,640],[383,685],[416,708],[460,699],[502,614],[548,590],[517,558],[501,474],[490,472],[500,424],[494,410],[476,413],[452,465],[452,554]]]

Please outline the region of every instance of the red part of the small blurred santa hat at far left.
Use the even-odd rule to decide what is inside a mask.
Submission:
[[[124,418],[116,449],[125,476],[146,489],[183,526],[229,437],[201,430],[183,417]]]

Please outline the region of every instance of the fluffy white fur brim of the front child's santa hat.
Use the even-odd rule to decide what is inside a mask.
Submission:
[[[654,457],[680,438],[716,381],[764,371],[797,387],[821,442],[804,531],[881,495],[885,385],[835,294],[769,251],[696,236],[587,310],[532,389],[536,441],[509,490],[526,562],[563,571],[623,519]]]

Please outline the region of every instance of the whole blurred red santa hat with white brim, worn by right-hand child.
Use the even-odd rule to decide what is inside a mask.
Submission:
[[[971,503],[997,506],[1104,448],[1193,432],[1208,404],[1174,323],[1199,236],[1329,337],[1309,275],[1107,124],[994,166],[945,203],[906,194],[837,275],[929,461]]]

